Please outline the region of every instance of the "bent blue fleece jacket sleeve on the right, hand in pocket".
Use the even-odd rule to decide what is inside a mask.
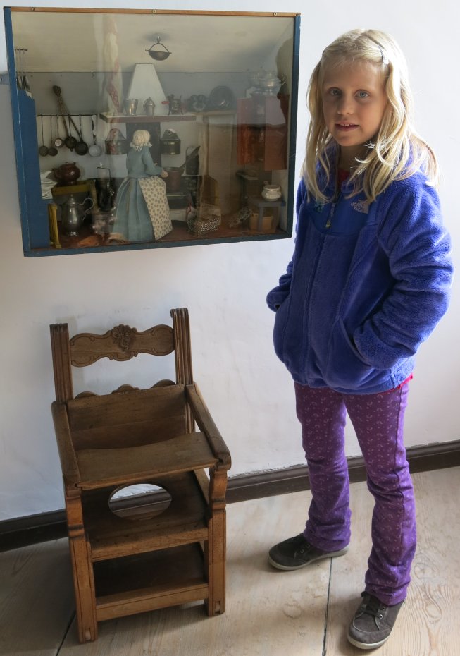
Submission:
[[[416,353],[447,310],[453,275],[437,193],[422,174],[394,185],[379,232],[394,285],[353,334],[363,359],[378,369]]]

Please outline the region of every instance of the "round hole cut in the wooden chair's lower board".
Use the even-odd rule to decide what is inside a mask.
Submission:
[[[108,499],[113,514],[123,519],[150,519],[168,509],[172,497],[168,490],[153,483],[118,487]]]

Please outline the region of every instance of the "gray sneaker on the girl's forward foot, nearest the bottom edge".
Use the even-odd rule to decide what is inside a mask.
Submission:
[[[348,629],[348,641],[360,649],[375,649],[390,638],[404,602],[387,606],[368,593],[361,593],[361,597],[363,601]]]

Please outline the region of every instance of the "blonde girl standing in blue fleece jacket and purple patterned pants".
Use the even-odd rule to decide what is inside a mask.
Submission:
[[[270,549],[295,570],[349,548],[346,415],[375,499],[362,600],[349,642],[383,645],[416,549],[403,424],[416,351],[447,310],[450,239],[433,151],[411,122],[404,56],[352,30],[313,71],[294,255],[268,293],[275,352],[294,379],[312,501],[304,531]]]

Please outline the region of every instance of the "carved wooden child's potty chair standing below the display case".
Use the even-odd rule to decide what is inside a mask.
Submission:
[[[225,610],[230,453],[192,380],[188,312],[171,315],[173,327],[143,332],[120,325],[69,339],[67,324],[50,327],[51,410],[80,642],[96,640],[97,623],[119,616],[197,600],[204,600],[209,616]],[[175,382],[73,396],[73,367],[173,351]],[[147,505],[140,518],[115,514],[109,507],[113,493],[140,483],[163,490],[162,498],[170,497],[167,509],[158,514],[154,504],[149,514]]]

